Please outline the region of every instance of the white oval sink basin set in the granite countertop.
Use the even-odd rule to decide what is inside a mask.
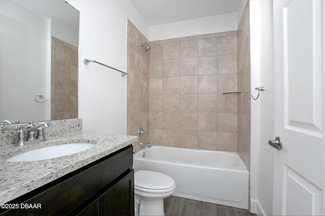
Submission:
[[[70,143],[57,146],[49,146],[40,149],[31,150],[8,158],[9,162],[25,162],[45,160],[55,157],[66,156],[87,150],[95,144],[91,143]]]

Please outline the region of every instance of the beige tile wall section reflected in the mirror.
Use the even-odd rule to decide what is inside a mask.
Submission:
[[[52,37],[51,119],[78,118],[78,48]]]

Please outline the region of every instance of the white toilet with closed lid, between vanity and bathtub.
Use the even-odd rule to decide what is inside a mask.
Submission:
[[[134,175],[136,215],[165,215],[164,198],[176,190],[175,181],[160,172],[139,170]]]

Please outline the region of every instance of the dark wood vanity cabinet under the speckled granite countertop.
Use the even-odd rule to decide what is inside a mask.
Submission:
[[[134,215],[133,148],[127,146],[8,203],[1,215]]]

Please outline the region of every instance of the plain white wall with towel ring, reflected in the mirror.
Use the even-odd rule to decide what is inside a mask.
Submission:
[[[40,94],[50,99],[48,22],[13,1],[0,2],[0,121],[50,119],[50,103],[34,101]]]

